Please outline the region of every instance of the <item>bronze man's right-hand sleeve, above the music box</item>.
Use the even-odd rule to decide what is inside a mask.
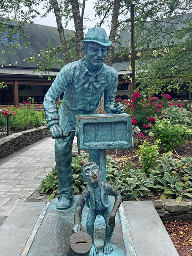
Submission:
[[[104,91],[104,106],[107,113],[111,113],[109,107],[115,102],[116,90],[118,85],[118,73],[115,69],[111,68],[111,81],[109,86]]]

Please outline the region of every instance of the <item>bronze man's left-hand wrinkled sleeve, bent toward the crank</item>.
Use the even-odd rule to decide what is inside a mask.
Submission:
[[[70,66],[68,64],[61,69],[44,97],[44,111],[48,126],[59,123],[57,100],[70,84]]]

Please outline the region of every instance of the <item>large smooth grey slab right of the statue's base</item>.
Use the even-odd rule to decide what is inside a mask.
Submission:
[[[151,201],[124,201],[137,256],[179,256]]]

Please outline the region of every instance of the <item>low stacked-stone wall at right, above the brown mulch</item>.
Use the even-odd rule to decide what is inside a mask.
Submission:
[[[152,201],[162,221],[192,222],[192,200],[176,203],[175,199]]]

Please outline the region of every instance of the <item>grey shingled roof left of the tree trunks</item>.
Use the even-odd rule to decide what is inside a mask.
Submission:
[[[17,22],[12,22],[13,26],[17,26]],[[41,61],[41,56],[38,56],[41,49],[48,48],[47,42],[50,40],[53,47],[60,44],[58,30],[56,27],[52,26],[44,26],[39,24],[31,24],[26,23],[23,26],[25,33],[29,36],[26,41],[30,42],[29,46],[26,48],[25,43],[26,41],[21,39],[22,33],[19,34],[19,44],[20,47],[17,48],[16,53],[13,47],[9,47],[9,52],[1,53],[0,54],[0,69],[1,65],[4,67],[20,67],[20,68],[37,68],[38,62]],[[22,31],[21,30],[21,31]],[[65,35],[67,37],[72,37],[74,35],[73,30],[64,29]],[[3,51],[4,45],[0,45],[0,52]],[[25,58],[30,58],[30,56],[35,57],[35,62],[29,63],[28,61],[23,61]],[[3,59],[5,60],[5,64],[3,64]],[[17,61],[17,64],[15,63]],[[9,63],[11,66],[9,66]],[[59,69],[60,67],[55,66],[55,69]]]

